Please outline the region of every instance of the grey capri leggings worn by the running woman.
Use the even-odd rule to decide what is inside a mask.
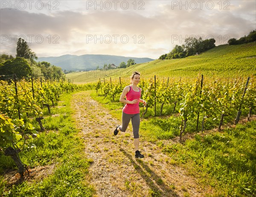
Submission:
[[[139,138],[140,113],[127,114],[122,112],[122,127],[119,127],[119,129],[120,131],[125,132],[130,120],[131,120],[132,129],[134,133],[134,139]]]

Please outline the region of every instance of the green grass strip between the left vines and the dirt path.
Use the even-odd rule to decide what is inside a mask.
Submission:
[[[71,118],[70,101],[72,94],[61,96],[59,107],[52,108],[53,116],[46,117],[42,123],[47,131],[28,141],[20,152],[20,159],[30,169],[53,164],[55,170],[40,181],[26,181],[8,185],[0,175],[0,194],[9,197],[90,197],[94,190],[85,181],[90,160],[84,158],[84,144],[81,141],[74,120]],[[11,158],[0,153],[0,172],[15,169]]]

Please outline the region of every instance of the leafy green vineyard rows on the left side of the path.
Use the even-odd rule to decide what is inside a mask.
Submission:
[[[92,87],[93,84],[78,86],[63,80],[17,80],[16,77],[9,81],[0,80],[0,150],[12,157],[20,174],[26,169],[18,155],[20,148],[25,146],[26,139],[33,140],[38,133],[31,118],[35,118],[40,131],[44,131],[41,122],[44,119],[43,107],[46,106],[51,115],[50,102],[54,106],[54,100],[57,102],[62,93]]]

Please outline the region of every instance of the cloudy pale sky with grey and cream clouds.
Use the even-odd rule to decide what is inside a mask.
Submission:
[[[159,58],[193,36],[226,44],[256,29],[255,0],[0,0],[0,53]]]

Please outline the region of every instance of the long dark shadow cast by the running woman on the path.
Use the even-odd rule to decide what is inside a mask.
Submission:
[[[120,149],[123,154],[131,161],[131,164],[134,166],[134,169],[140,174],[141,177],[146,181],[149,188],[151,189],[151,196],[152,197],[180,197],[176,194],[168,185],[163,183],[163,180],[160,176],[155,174],[148,165],[146,165],[143,160],[138,159],[138,163],[134,160],[134,157],[128,154],[124,149]],[[150,176],[146,173],[148,172]]]

